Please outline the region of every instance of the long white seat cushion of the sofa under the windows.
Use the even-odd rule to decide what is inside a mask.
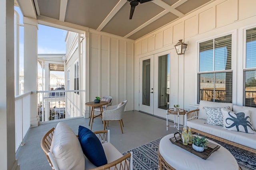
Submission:
[[[187,121],[187,126],[191,127],[192,129],[196,129],[198,131],[202,131],[214,135],[216,137],[220,137],[228,141],[232,141],[240,145],[250,147],[252,149],[256,149],[256,134],[229,131],[221,126],[208,125],[206,124],[206,120],[204,119],[195,119]]]

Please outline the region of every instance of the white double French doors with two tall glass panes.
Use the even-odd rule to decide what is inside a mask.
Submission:
[[[140,59],[139,110],[166,117],[170,102],[170,52]]]

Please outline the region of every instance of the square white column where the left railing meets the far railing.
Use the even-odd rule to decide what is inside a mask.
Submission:
[[[24,93],[32,91],[30,102],[31,127],[38,126],[37,105],[37,31],[38,21],[23,18],[24,23]]]

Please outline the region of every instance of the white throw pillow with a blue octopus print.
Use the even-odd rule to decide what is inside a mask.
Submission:
[[[256,133],[252,126],[250,110],[238,111],[236,113],[228,109],[221,109],[221,111],[224,118],[224,129],[245,133]]]

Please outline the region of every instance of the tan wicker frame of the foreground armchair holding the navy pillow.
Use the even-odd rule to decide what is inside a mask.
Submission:
[[[42,137],[41,140],[41,148],[44,151],[44,154],[52,167],[53,170],[59,170],[58,164],[56,163],[52,153],[50,152],[51,144],[52,144],[52,138],[54,135],[54,127],[48,131],[44,137]],[[110,135],[109,130],[108,131],[96,131],[94,132],[95,135],[100,139],[101,143],[110,142]],[[77,135],[78,137],[78,135]],[[129,161],[130,160],[130,161]],[[90,170],[132,170],[133,164],[132,164],[132,152],[125,154],[121,158],[118,158],[117,160],[114,160],[113,162],[110,162],[106,165],[99,166],[97,168],[93,168]]]

